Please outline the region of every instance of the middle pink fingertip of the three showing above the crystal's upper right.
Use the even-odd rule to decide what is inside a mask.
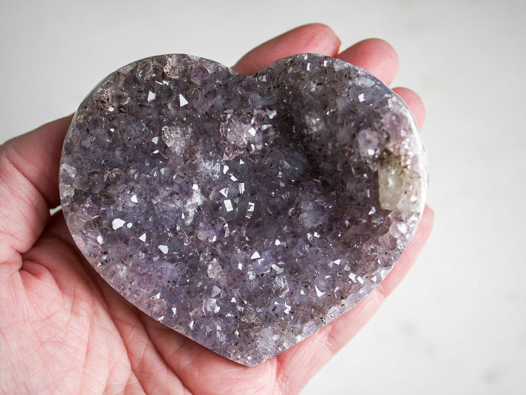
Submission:
[[[360,41],[336,57],[366,69],[386,85],[392,82],[398,72],[399,62],[395,48],[379,38]]]

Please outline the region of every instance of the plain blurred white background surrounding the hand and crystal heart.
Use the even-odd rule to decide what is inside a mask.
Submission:
[[[526,393],[526,3],[93,1],[0,5],[0,143],[75,111],[116,68],[189,53],[232,65],[295,26],[381,37],[416,90],[435,227],[401,286],[303,394]]]

